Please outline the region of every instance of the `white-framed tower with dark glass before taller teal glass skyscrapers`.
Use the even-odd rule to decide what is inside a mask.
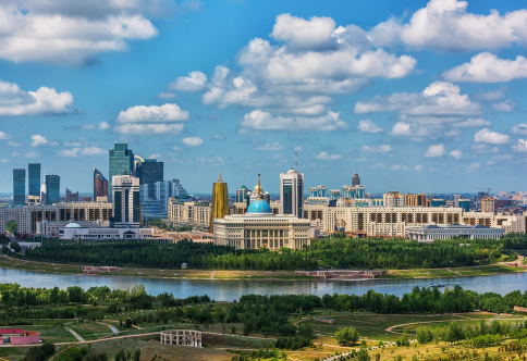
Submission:
[[[117,227],[140,225],[139,178],[133,175],[112,177],[113,222]]]

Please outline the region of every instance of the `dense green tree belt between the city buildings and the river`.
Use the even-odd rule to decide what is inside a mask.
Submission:
[[[331,236],[311,241],[302,250],[283,248],[236,250],[229,246],[181,240],[161,245],[155,240],[63,241],[49,240],[27,250],[25,258],[57,263],[219,270],[315,269],[420,269],[490,264],[504,249],[526,249],[527,235],[502,239],[449,239],[433,244],[403,239],[354,239]],[[513,254],[515,254],[513,252]]]

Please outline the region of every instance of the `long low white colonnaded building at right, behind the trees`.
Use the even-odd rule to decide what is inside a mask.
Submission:
[[[493,238],[500,239],[505,232],[504,228],[491,228],[483,225],[426,225],[424,227],[408,227],[406,228],[409,240],[432,242],[436,239],[451,239],[452,237],[461,237],[467,239],[475,238]]]

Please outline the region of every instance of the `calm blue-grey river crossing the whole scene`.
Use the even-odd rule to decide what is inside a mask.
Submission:
[[[527,273],[513,273],[492,276],[436,278],[436,279],[393,279],[393,281],[246,281],[246,279],[163,279],[123,276],[59,275],[0,267],[0,283],[16,282],[23,287],[66,288],[81,286],[87,289],[93,286],[108,286],[111,289],[132,289],[143,284],[149,295],[172,292],[176,298],[194,295],[208,295],[217,301],[233,301],[247,294],[284,295],[284,294],[355,294],[364,295],[369,289],[380,294],[403,296],[415,286],[427,286],[430,282],[442,282],[449,288],[455,285],[477,292],[497,292],[505,295],[519,289],[527,290]]]

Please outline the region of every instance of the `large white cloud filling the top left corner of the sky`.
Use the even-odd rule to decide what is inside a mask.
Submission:
[[[158,34],[145,1],[2,1],[0,58],[13,62],[84,65],[100,52],[125,51]],[[152,1],[160,2],[160,1]]]

